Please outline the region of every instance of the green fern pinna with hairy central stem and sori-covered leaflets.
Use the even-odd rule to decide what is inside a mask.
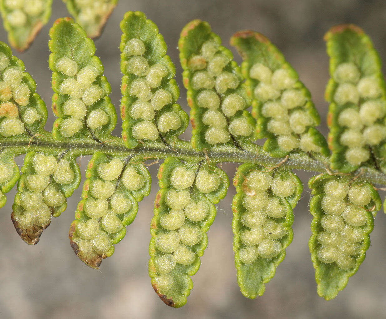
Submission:
[[[253,31],[232,37],[244,60],[239,66],[210,25],[193,20],[179,40],[193,127],[191,141],[185,141],[179,136],[189,115],[177,104],[176,68],[163,36],[143,13],[127,12],[120,24],[120,138],[111,134],[117,123],[111,87],[87,37],[97,34],[100,24],[86,17],[79,1],[67,2],[77,20],[88,24],[84,31],[70,18],[58,19],[49,32],[57,117],[52,132],[44,129],[47,109],[36,83],[0,42],[0,206],[18,183],[11,218],[20,237],[28,244],[39,241],[80,185],[76,159],[93,155],[69,240],[81,261],[98,268],[124,238],[138,202],[150,193],[144,161],[162,159],[149,276],[167,305],[181,307],[200,268],[215,205],[229,188],[220,164],[238,162],[233,249],[241,292],[253,299],[264,293],[293,239],[294,209],[303,192],[293,170],[316,171],[308,183],[309,246],[318,294],[334,298],[364,261],[381,207],[374,184],[386,184],[385,85],[369,37],[354,25],[339,25],[325,36],[331,58],[327,142],[317,129],[320,118],[310,92],[266,37]],[[20,11],[20,3],[0,1],[2,12]],[[104,3],[108,10],[99,21],[117,1]],[[5,23],[14,25],[10,39],[27,34],[15,28],[19,11],[7,15]],[[266,139],[263,146],[257,138]],[[21,154],[26,155],[20,174],[14,158]]]

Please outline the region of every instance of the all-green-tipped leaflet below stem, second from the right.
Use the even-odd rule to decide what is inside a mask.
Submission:
[[[291,243],[293,207],[303,190],[291,171],[243,164],[234,178],[235,263],[242,293],[262,295]]]

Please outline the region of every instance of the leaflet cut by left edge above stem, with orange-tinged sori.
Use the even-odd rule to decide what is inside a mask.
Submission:
[[[34,80],[24,72],[22,61],[12,56],[10,48],[3,43],[0,44],[0,71],[1,136],[19,135],[25,132],[25,125],[31,129],[37,120],[45,122],[47,111],[39,95],[34,93]]]

